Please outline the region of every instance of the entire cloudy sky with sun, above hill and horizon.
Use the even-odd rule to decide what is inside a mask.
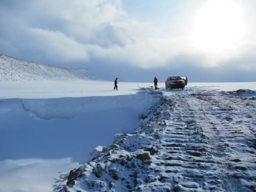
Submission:
[[[254,0],[0,0],[0,53],[101,79],[256,81]]]

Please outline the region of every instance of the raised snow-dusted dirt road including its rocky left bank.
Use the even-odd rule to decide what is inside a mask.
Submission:
[[[255,191],[255,91],[160,92],[137,131],[60,176],[55,190]]]

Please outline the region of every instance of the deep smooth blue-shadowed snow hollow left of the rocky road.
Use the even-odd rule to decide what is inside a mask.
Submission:
[[[156,92],[157,93],[157,92]],[[51,191],[59,172],[132,132],[159,94],[0,100],[0,191]]]

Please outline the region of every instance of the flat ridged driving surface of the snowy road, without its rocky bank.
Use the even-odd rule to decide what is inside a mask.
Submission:
[[[255,190],[255,100],[214,91],[170,98],[159,163],[173,188]]]

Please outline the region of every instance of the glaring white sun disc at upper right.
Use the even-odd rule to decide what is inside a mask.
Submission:
[[[233,49],[243,35],[243,13],[230,0],[211,0],[197,12],[192,40],[197,49],[222,52]]]

